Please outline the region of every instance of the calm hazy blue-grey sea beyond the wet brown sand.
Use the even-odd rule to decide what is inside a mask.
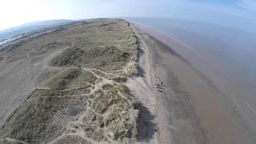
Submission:
[[[126,18],[192,47],[256,130],[256,34],[203,22]],[[192,64],[196,65],[196,63]]]

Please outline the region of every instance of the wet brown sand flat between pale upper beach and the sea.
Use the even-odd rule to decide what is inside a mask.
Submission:
[[[216,86],[214,78],[209,78],[210,74],[206,76],[208,71],[202,71],[203,65],[191,63],[198,60],[188,53],[193,48],[176,45],[173,49],[163,44],[162,36],[154,31],[141,26],[136,29],[149,50],[159,143],[256,142],[234,102]],[[161,82],[163,86],[158,88]]]

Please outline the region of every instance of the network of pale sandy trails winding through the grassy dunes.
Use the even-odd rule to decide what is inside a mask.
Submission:
[[[66,47],[68,48],[68,47]],[[65,49],[66,49],[65,48]],[[65,50],[64,49],[64,50]],[[63,71],[63,70],[67,70],[67,69],[76,69],[77,67],[76,66],[70,66],[70,67],[54,67],[54,66],[50,66],[49,63],[50,63],[50,59],[51,58],[54,58],[54,56],[60,54],[63,50],[58,50],[56,52],[54,52],[53,54],[50,54],[44,61],[42,62],[38,62],[36,63],[35,66],[41,66],[43,68],[43,70],[60,70],[60,71]],[[113,85],[114,84],[114,80],[110,80],[110,79],[107,79],[106,76],[108,75],[111,75],[111,76],[119,76],[118,74],[113,74],[113,73],[110,73],[110,72],[105,72],[103,70],[98,70],[98,69],[95,69],[95,68],[89,68],[89,67],[82,67],[82,70],[83,71],[87,71],[87,72],[90,72],[91,74],[94,74],[94,76],[96,78],[99,78],[101,79],[100,82],[97,82],[95,84],[91,84],[89,83],[90,85],[94,86],[93,89],[90,90],[90,93],[88,94],[75,94],[75,95],[68,95],[68,96],[54,96],[54,97],[57,97],[57,98],[64,98],[64,97],[77,97],[77,96],[85,96],[85,97],[89,97],[91,94],[94,94],[96,91],[98,90],[102,90],[102,86],[103,85],[106,85],[106,84],[110,84],[110,85]],[[99,74],[96,74],[94,71],[98,71],[101,73],[101,75]],[[103,74],[103,75],[102,75]],[[88,84],[88,82],[85,82]],[[41,88],[37,88],[38,90],[49,90],[48,88],[46,89],[41,89]],[[102,90],[104,91],[104,90]],[[123,96],[120,92],[118,92],[118,94],[126,99],[126,101],[129,101],[125,96]],[[43,96],[43,98],[45,97],[50,97],[50,96]],[[38,98],[30,98],[28,99],[26,102],[31,102],[31,101],[34,101],[34,100],[37,100]],[[93,103],[93,102],[90,102],[90,103]],[[114,105],[111,106],[114,108]],[[110,108],[111,110],[112,108]],[[80,126],[82,124],[82,121],[83,119],[88,116],[88,113],[89,111],[93,112],[94,114],[97,114],[99,116],[102,116],[102,117],[105,117],[106,115],[110,114],[110,111],[106,111],[104,114],[98,114],[98,112],[96,112],[91,106],[90,104],[88,103],[86,105],[86,112],[84,114],[82,114],[77,121],[74,121],[74,122],[69,122],[70,125],[66,126],[66,130],[58,136],[58,138],[55,138],[52,142],[49,142],[50,144],[54,144],[54,143],[58,143],[58,141],[60,141],[62,138],[65,138],[67,136],[78,136],[79,138],[82,138],[84,139],[86,142],[92,142],[92,143],[108,143],[108,142],[111,142],[111,143],[117,143],[117,142],[114,142],[111,138],[108,138],[107,137],[107,141],[108,142],[96,142],[94,141],[94,139],[86,136],[86,133],[84,132],[84,130],[82,129],[82,127]],[[75,128],[74,128],[75,126]],[[104,132],[106,131],[105,129],[106,128],[99,128],[99,129],[102,129]],[[12,138],[5,138],[6,141],[8,142],[21,142],[21,143],[26,143],[26,142],[22,142],[22,141],[19,141],[19,140],[16,140],[16,139],[12,139]]]

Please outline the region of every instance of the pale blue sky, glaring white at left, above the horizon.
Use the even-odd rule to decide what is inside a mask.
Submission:
[[[0,0],[0,30],[46,19],[182,18],[222,25],[256,22],[256,0]]]

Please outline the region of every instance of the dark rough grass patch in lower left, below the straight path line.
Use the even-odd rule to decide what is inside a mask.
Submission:
[[[86,110],[86,97],[29,98],[0,130],[1,138],[14,138],[29,143],[52,140]]]

